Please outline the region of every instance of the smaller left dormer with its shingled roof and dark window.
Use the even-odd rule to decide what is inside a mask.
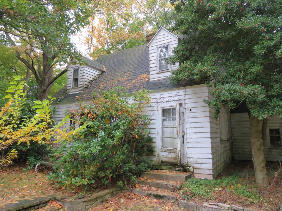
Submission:
[[[70,62],[68,68],[67,93],[78,93],[83,91],[92,81],[104,72],[102,64],[83,57],[84,65]]]

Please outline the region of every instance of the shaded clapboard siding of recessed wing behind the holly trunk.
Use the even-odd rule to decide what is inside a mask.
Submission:
[[[231,114],[234,159],[252,160],[251,132],[248,113]],[[278,117],[269,118],[264,156],[267,161],[282,161],[282,149],[270,149],[269,128],[281,128],[282,120]]]

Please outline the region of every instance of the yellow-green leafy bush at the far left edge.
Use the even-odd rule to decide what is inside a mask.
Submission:
[[[7,89],[3,99],[9,99],[0,111],[0,167],[9,165],[17,158],[17,148],[12,145],[29,146],[31,142],[43,144],[53,136],[53,128],[49,128],[51,119],[51,102],[48,100],[34,101],[35,113],[24,116],[26,91],[21,76],[16,76]],[[18,147],[19,148],[19,147]]]

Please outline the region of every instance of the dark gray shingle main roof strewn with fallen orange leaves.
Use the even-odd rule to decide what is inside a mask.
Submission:
[[[187,80],[175,85],[167,78],[150,81],[149,48],[146,45],[100,56],[95,61],[105,66],[105,72],[83,92],[66,94],[66,87],[63,87],[54,95],[61,99],[60,103],[89,100],[93,98],[93,92],[99,93],[117,86],[125,87],[130,93],[140,89],[158,91],[199,84],[194,80]]]

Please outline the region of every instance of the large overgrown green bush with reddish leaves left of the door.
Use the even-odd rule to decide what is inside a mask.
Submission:
[[[72,143],[58,140],[61,145],[53,157],[60,159],[50,179],[69,188],[102,183],[123,186],[135,180],[136,174],[148,168],[147,161],[140,161],[141,155],[152,152],[147,128],[150,117],[141,115],[149,101],[145,90],[129,95],[119,88],[96,95],[89,105],[80,104],[80,109],[69,111],[75,124],[85,128]]]

